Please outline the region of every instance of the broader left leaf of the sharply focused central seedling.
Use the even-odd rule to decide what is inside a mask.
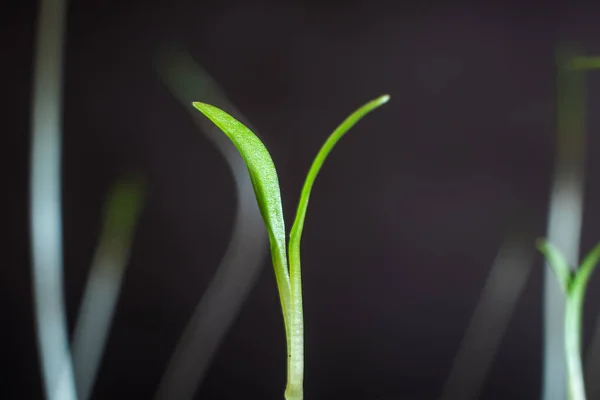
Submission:
[[[244,124],[209,104],[194,102],[192,105],[229,137],[246,163],[258,208],[269,234],[275,279],[284,319],[287,321],[290,312],[290,282],[281,190],[275,164],[263,142]]]

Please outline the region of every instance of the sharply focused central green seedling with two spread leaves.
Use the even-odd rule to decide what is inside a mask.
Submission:
[[[304,320],[300,273],[300,240],[313,183],[325,159],[342,136],[365,115],[385,104],[389,99],[390,96],[383,95],[366,103],[346,118],[325,141],[304,181],[287,251],[279,180],[275,164],[267,148],[250,129],[231,115],[206,103],[192,103],[196,109],[229,137],[248,168],[254,194],[271,243],[271,257],[283,312],[288,355],[287,386],[285,389],[287,400],[301,400],[303,398]]]

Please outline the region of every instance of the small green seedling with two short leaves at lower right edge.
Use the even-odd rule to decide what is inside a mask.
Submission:
[[[588,253],[579,268],[571,270],[561,252],[545,240],[538,241],[565,295],[564,335],[567,361],[567,398],[585,400],[585,382],[581,364],[581,320],[585,290],[592,272],[600,261],[600,244]]]

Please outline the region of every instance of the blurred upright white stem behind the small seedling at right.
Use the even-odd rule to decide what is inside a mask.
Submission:
[[[570,265],[579,263],[584,196],[584,72],[569,67],[576,56],[561,49],[557,65],[558,132],[556,165],[550,193],[547,240]],[[567,369],[564,335],[565,299],[546,262],[543,286],[542,400],[564,400]]]

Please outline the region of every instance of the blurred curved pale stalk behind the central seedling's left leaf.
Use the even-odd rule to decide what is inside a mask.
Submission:
[[[156,393],[157,399],[191,400],[254,287],[267,255],[268,237],[242,157],[227,136],[193,111],[191,103],[203,99],[240,113],[186,51],[161,52],[157,68],[173,96],[190,110],[194,122],[225,157],[238,196],[233,235],[226,253],[187,323]]]

